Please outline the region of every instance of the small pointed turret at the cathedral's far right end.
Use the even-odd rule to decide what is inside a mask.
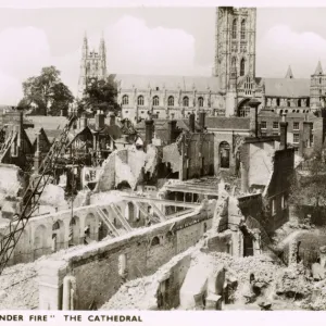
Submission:
[[[315,73],[311,75],[310,82],[310,106],[313,110],[325,105],[326,97],[326,75],[323,72],[321,61],[316,66]]]

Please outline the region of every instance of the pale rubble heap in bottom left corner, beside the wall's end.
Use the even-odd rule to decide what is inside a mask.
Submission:
[[[38,309],[35,263],[8,267],[0,276],[0,310]]]

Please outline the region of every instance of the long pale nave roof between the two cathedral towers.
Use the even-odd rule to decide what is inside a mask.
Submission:
[[[155,75],[115,75],[115,80],[120,83],[123,89],[155,89],[159,87],[162,89],[177,90],[193,90],[193,87],[198,91],[208,91],[211,89],[212,92],[217,92],[218,78],[217,77],[205,77],[205,76],[155,76]]]

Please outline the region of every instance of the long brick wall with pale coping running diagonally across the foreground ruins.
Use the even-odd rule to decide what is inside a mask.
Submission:
[[[215,201],[192,214],[134,230],[121,238],[110,239],[46,261],[40,272],[40,309],[61,309],[61,290],[65,275],[76,278],[75,309],[101,306],[126,279],[154,273],[178,252],[187,250],[203,235],[204,224],[211,227]],[[125,260],[124,276],[118,262]],[[53,266],[49,268],[49,266]],[[49,277],[51,275],[51,277]],[[53,298],[57,298],[53,301]]]

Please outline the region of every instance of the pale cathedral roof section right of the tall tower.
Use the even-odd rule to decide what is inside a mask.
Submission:
[[[308,78],[265,78],[265,95],[283,98],[310,97],[310,79]]]

